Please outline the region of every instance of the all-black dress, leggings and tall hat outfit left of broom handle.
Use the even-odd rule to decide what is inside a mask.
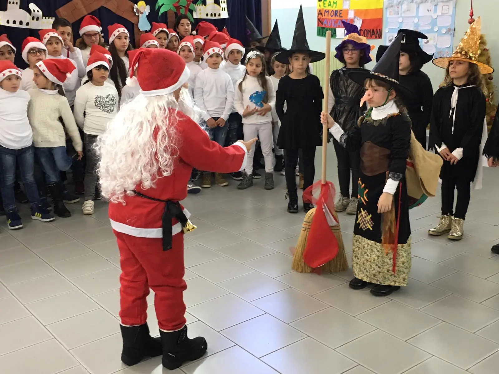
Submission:
[[[303,10],[300,6],[294,28],[293,42],[289,50],[282,51],[275,59],[283,64],[289,64],[293,53],[304,53],[311,61],[325,58],[322,52],[312,51],[308,47],[303,21]],[[322,144],[320,113],[324,94],[319,78],[308,74],[301,79],[293,79],[286,75],[279,80],[276,92],[275,111],[281,126],[277,146],[284,150],[286,186],[289,194],[288,212],[298,212],[298,193],[296,188],[295,168],[298,162],[298,150],[303,155],[303,189],[313,184],[315,175],[315,148]],[[286,111],[284,112],[284,104]],[[312,208],[309,203],[303,203],[303,209]]]

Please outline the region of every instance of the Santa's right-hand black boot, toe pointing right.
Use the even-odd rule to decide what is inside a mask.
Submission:
[[[186,361],[201,358],[208,348],[206,339],[187,337],[187,325],[182,330],[167,333],[160,330],[163,345],[163,366],[169,370],[180,368]]]

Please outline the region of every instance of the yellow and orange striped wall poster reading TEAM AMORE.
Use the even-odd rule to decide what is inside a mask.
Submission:
[[[381,39],[383,31],[383,0],[317,0],[317,36],[344,38],[341,20],[359,27],[360,35]]]

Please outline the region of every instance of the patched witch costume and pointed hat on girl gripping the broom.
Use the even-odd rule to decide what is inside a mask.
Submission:
[[[402,35],[395,38],[371,72],[352,71],[348,77],[363,85],[366,79],[388,83],[386,103],[369,109],[352,130],[344,132],[336,123],[329,132],[353,152],[360,149],[358,204],[353,230],[353,289],[374,287],[375,296],[386,296],[406,286],[411,269],[411,227],[405,180],[411,122],[393,100],[393,89],[407,93],[400,85],[399,52]],[[383,192],[393,194],[392,207],[378,213]]]

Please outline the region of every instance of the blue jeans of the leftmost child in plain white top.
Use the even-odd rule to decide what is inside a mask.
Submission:
[[[40,197],[34,181],[34,149],[33,146],[21,149],[9,149],[0,146],[1,196],[6,211],[15,209],[14,183],[15,165],[19,164],[22,184],[31,205],[38,206]]]

